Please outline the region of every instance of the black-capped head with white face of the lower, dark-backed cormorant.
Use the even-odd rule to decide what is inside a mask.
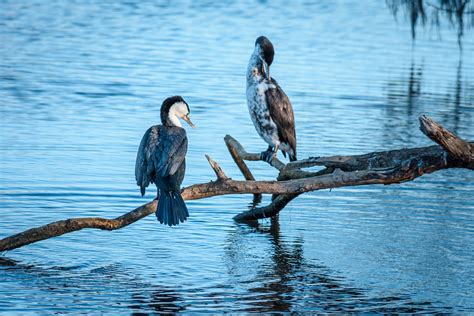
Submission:
[[[192,128],[196,126],[189,118],[189,105],[180,96],[169,97],[161,105],[161,123],[166,126],[182,127],[179,119],[183,119]]]

